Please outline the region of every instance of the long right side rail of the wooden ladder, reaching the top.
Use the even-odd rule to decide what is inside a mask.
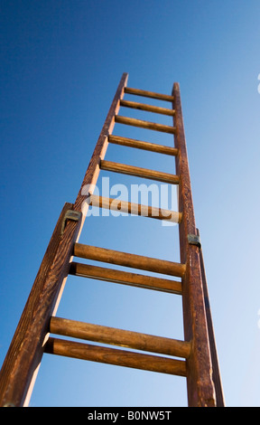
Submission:
[[[187,360],[187,390],[189,406],[215,407],[216,397],[212,381],[212,364],[209,352],[209,336],[200,272],[200,252],[191,245],[188,235],[196,235],[195,217],[190,185],[190,171],[181,111],[181,95],[178,83],[173,84],[172,108],[175,109],[174,145],[179,149],[176,156],[176,174],[180,176],[179,207],[182,220],[179,225],[181,263],[186,264],[182,278],[182,306],[184,336],[191,342],[190,358]]]

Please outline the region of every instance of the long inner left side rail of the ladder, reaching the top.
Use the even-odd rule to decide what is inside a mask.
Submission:
[[[115,115],[119,109],[120,99],[124,96],[125,85],[127,83],[128,74],[124,73],[116,90],[111,107],[108,111],[105,124],[98,137],[98,142],[94,153],[88,165],[88,170],[81,184],[76,202],[72,206],[74,212],[81,213],[82,203],[88,197],[88,194],[82,194],[82,188],[85,184],[94,185],[97,183],[99,174],[100,156],[105,156],[107,150],[107,138],[113,130],[115,124]],[[63,222],[64,215],[59,219],[59,226]],[[70,271],[70,260],[73,256],[73,248],[76,241],[79,240],[80,231],[86,216],[81,214],[78,222],[68,221],[64,232],[59,238],[57,250],[52,257],[47,259],[50,267],[48,273],[42,278],[40,294],[33,302],[33,315],[29,323],[28,317],[25,317],[26,338],[20,340],[20,349],[13,352],[14,367],[12,373],[9,371],[6,377],[6,367],[3,369],[1,386],[3,389],[0,393],[1,405],[24,406],[28,405],[32,393],[32,387],[35,382],[35,375],[41,364],[46,336],[49,333],[49,325],[51,316],[53,316],[58,308],[62,290],[64,288],[67,276]],[[9,357],[9,355],[8,355]],[[7,361],[6,361],[7,362]],[[5,363],[6,364],[6,363]],[[8,367],[9,369],[9,367]],[[4,377],[3,377],[4,375]]]

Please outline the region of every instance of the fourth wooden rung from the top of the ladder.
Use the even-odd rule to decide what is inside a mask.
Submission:
[[[135,138],[121,137],[110,135],[108,137],[109,143],[114,145],[135,147],[137,149],[149,150],[152,152],[157,152],[158,154],[177,156],[178,149],[171,146],[157,145],[156,143],[144,142],[143,140],[136,140]]]

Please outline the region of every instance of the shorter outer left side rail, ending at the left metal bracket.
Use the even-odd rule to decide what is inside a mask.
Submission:
[[[27,401],[25,399],[27,394],[32,391],[31,382],[36,379],[37,370],[42,359],[42,337],[44,339],[47,332],[46,326],[49,326],[49,324],[40,323],[39,318],[37,323],[36,310],[41,305],[43,297],[46,295],[50,297],[50,294],[46,293],[46,290],[49,292],[49,289],[44,288],[44,282],[50,272],[51,262],[59,247],[64,214],[71,207],[72,203],[65,203],[60,213],[51,241],[44,254],[42,264],[14,332],[12,342],[5,355],[5,361],[0,372],[1,406],[21,406],[27,405],[29,402],[28,398]],[[43,315],[44,313],[43,311]],[[40,315],[42,316],[41,313]],[[35,346],[33,347],[33,345]]]

